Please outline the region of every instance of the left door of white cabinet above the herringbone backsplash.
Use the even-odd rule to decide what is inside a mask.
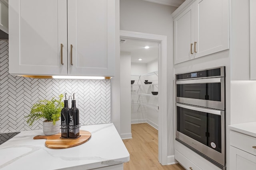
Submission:
[[[66,0],[9,0],[10,74],[67,74],[66,9]]]

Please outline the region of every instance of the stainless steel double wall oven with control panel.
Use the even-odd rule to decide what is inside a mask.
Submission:
[[[225,169],[225,67],[176,74],[176,141]]]

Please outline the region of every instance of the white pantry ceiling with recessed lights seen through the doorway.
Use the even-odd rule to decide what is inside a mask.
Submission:
[[[145,46],[149,48],[145,49]],[[158,59],[158,46],[159,43],[154,41],[120,38],[120,51],[131,53],[131,63],[149,63]]]

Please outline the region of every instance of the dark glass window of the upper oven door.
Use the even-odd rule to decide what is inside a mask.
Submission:
[[[221,102],[220,83],[177,84],[177,97]]]

